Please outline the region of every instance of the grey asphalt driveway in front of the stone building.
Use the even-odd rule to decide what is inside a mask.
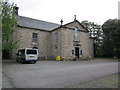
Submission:
[[[108,60],[38,61],[20,64],[3,61],[3,88],[67,88],[118,73],[118,63]]]

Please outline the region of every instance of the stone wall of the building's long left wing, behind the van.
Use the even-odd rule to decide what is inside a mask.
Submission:
[[[32,48],[32,34],[38,33],[38,50],[39,50],[39,58],[47,59],[47,55],[49,54],[48,50],[48,36],[50,36],[50,32],[35,30],[30,28],[21,28],[18,27],[16,31],[16,38],[18,42],[18,49],[20,48]],[[14,50],[13,53],[17,51]],[[49,50],[50,51],[50,50]],[[13,54],[13,58],[15,58],[15,54]]]

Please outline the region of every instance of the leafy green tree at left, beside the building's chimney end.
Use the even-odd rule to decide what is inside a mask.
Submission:
[[[17,26],[14,4],[2,2],[2,50],[9,52],[16,48],[17,41],[13,40],[13,33]]]

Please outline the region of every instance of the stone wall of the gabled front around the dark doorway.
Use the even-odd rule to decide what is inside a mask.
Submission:
[[[89,33],[84,32],[86,31],[83,27],[79,25],[79,23],[71,23],[66,25],[68,29],[62,29],[62,56],[66,57],[67,59],[73,59],[75,57],[75,47],[79,47],[79,54],[80,50],[82,50],[81,58],[87,58],[88,56],[93,57],[93,40],[89,39]],[[80,46],[74,45],[74,30],[69,28],[77,27],[78,30],[78,37],[80,42]],[[74,54],[72,54],[72,50],[74,50]]]

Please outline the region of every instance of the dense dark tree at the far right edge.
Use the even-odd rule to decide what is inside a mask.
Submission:
[[[120,20],[109,19],[103,25],[103,54],[120,58]]]

